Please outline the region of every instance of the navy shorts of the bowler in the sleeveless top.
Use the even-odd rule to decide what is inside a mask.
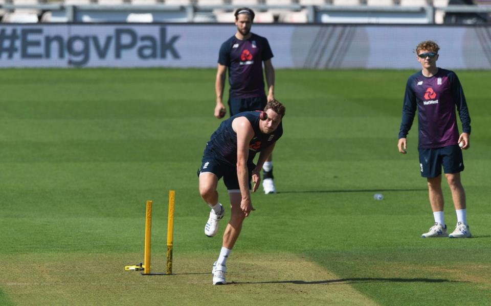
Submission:
[[[249,170],[249,189],[252,189],[251,179],[252,179],[252,170],[256,165],[250,162],[247,164],[247,168]],[[221,177],[224,177],[225,186],[227,186],[228,190],[237,190],[240,189],[239,181],[237,179],[237,166],[231,166],[229,163],[221,161],[213,156],[204,156],[201,167],[198,170],[198,177],[200,173],[211,172],[218,177],[218,180]]]

